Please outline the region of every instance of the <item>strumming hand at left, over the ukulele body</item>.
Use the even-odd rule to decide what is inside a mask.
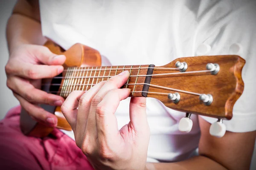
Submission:
[[[66,57],[50,52],[45,46],[21,45],[10,54],[6,64],[7,86],[32,118],[51,127],[57,125],[55,115],[37,104],[61,106],[61,96],[40,90],[42,78],[52,78],[63,71]]]

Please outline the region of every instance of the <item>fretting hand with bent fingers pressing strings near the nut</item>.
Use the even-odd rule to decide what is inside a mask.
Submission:
[[[146,98],[131,98],[130,122],[120,130],[114,115],[130,95],[130,89],[119,89],[128,76],[125,71],[87,92],[74,91],[61,106],[77,146],[96,170],[145,170],[150,135]]]

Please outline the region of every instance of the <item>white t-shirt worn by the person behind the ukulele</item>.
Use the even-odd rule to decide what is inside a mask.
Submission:
[[[232,132],[256,130],[255,9],[255,0],[40,0],[45,36],[64,49],[75,43],[93,47],[112,65],[161,66],[199,54],[241,55],[246,60],[244,92],[232,120],[224,121]],[[201,51],[206,46],[211,50]],[[129,121],[129,100],[116,111],[119,128]],[[147,98],[147,115],[149,161],[179,161],[192,155],[200,138],[197,115],[191,116],[190,133],[178,130],[185,113],[154,98]]]

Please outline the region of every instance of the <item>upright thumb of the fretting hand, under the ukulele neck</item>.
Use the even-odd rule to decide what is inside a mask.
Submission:
[[[148,119],[146,114],[146,98],[134,97],[130,101],[130,122],[135,131],[148,128]]]

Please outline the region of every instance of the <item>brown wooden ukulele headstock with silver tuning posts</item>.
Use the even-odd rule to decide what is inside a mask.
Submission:
[[[177,58],[154,68],[147,97],[182,112],[231,119],[233,106],[244,89],[244,64],[245,60],[237,55]]]

